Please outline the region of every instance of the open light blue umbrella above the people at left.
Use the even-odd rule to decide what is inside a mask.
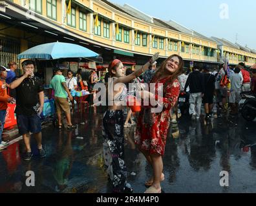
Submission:
[[[60,59],[60,58],[80,58],[96,57],[99,54],[92,52],[78,44],[65,42],[52,42],[34,46],[25,52],[17,55],[18,59]]]

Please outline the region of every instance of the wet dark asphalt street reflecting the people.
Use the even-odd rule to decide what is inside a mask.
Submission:
[[[43,159],[37,156],[34,138],[30,162],[22,160],[22,140],[7,147],[0,153],[0,192],[111,192],[103,169],[102,116],[102,109],[90,109],[82,117],[74,114],[76,130],[43,129]],[[212,118],[208,125],[180,118],[169,129],[165,147],[164,192],[256,192],[255,127],[256,122],[240,116]],[[128,181],[134,192],[144,192],[151,168],[133,143],[134,129],[125,128]],[[173,138],[176,131],[179,135]],[[25,184],[27,171],[34,171],[34,187]],[[228,171],[228,187],[220,186],[220,171]]]

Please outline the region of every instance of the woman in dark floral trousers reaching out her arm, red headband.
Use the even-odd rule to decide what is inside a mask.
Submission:
[[[125,67],[118,59],[109,64],[112,79],[108,82],[108,109],[103,115],[103,155],[105,167],[113,185],[113,192],[132,192],[127,184],[127,169],[124,162],[123,108],[126,105],[127,89],[125,84],[140,76],[154,61],[147,62],[142,68],[125,76]],[[116,90],[118,89],[118,90]],[[110,102],[112,101],[112,102]],[[112,103],[112,104],[111,104]]]

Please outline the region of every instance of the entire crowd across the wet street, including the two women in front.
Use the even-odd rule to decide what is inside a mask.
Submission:
[[[136,125],[134,143],[138,145],[138,149],[153,169],[153,175],[145,181],[148,187],[145,193],[160,193],[162,191],[160,183],[164,181],[162,156],[165,153],[169,125],[175,122],[172,114],[178,111],[180,92],[189,95],[189,115],[192,120],[202,117],[201,107],[204,104],[206,122],[209,122],[213,115],[213,104],[216,104],[222,113],[226,113],[230,107],[230,114],[237,115],[240,92],[256,93],[256,64],[251,66],[251,73],[246,70],[243,63],[239,63],[235,68],[225,68],[222,64],[219,71],[217,68],[195,65],[190,72],[190,70],[184,70],[184,61],[179,55],[171,55],[160,64],[159,68],[156,68],[157,58],[157,55],[154,55],[136,71],[127,69],[120,60],[114,59],[109,64],[109,72],[105,76],[107,87],[114,88],[115,85],[123,83],[117,91],[107,94],[114,100],[114,104],[107,106],[107,111],[103,115],[103,158],[113,192],[133,191],[131,185],[127,183],[124,127]],[[33,156],[30,133],[36,138],[39,156],[43,158],[46,156],[46,151],[42,146],[40,114],[43,111],[45,94],[43,83],[34,75],[35,62],[23,61],[23,75],[19,77],[16,77],[15,62],[10,62],[8,67],[9,69],[0,66],[0,149],[8,146],[8,142],[2,140],[7,104],[16,103],[17,127],[26,147],[24,159],[31,160]],[[69,70],[65,78],[60,68],[54,68],[48,97],[54,98],[59,129],[63,129],[61,121],[63,113],[67,118],[67,129],[76,128],[71,119],[71,113],[74,112],[74,97],[70,91],[72,89],[93,91],[97,82],[99,79],[95,70],[92,70],[87,84],[82,79],[81,70],[76,75]],[[149,83],[155,84],[155,93],[144,90],[145,84]],[[162,95],[158,94],[160,86],[163,86]],[[142,104],[142,109],[135,121],[131,108],[126,108],[124,106],[126,104],[123,104],[128,95],[139,95],[142,102],[153,98],[157,104],[162,105],[162,110],[158,113],[152,112],[151,109],[155,106],[151,103],[147,106]],[[124,108],[127,109],[126,119],[123,114]]]

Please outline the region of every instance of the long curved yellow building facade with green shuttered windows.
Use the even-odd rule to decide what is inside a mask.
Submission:
[[[220,55],[225,55],[231,64],[242,61],[250,66],[256,62],[255,53],[228,46],[222,46],[222,51],[219,51],[219,45],[215,41],[149,23],[123,12],[106,0],[72,0],[69,14],[69,0],[5,0],[0,3],[1,18],[12,18],[13,13],[9,11],[16,12],[16,18],[19,17],[18,14],[22,15],[23,19],[28,19],[26,23],[30,26],[37,23],[50,28],[52,39],[56,38],[58,32],[58,35],[67,35],[67,40],[72,39],[71,42],[76,40],[137,55],[150,56],[160,52],[160,57],[165,58],[176,53],[187,61],[200,62],[219,62]],[[0,23],[0,29],[5,26]],[[44,30],[49,34],[47,28]],[[32,37],[26,40],[24,33],[26,32],[21,28],[6,28],[0,32],[0,36],[19,39],[19,52],[27,50],[29,41],[33,40],[34,44],[52,41],[51,37],[45,40],[44,33],[39,37],[35,36],[35,39]],[[33,32],[27,32],[27,35],[28,33]]]

